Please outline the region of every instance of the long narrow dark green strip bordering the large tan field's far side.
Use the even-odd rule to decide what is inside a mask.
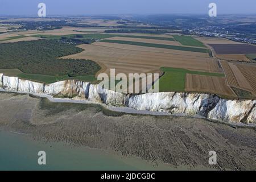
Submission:
[[[192,51],[192,52],[210,53],[209,49],[196,48],[196,47],[170,46],[170,45],[165,45],[165,44],[131,42],[131,41],[124,41],[124,40],[101,40],[101,42],[117,43],[117,44],[128,44],[128,45],[133,45],[133,46],[146,46],[146,47],[174,49],[174,50],[179,50],[179,51]]]

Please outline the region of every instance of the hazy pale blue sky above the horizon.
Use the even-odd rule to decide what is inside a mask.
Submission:
[[[219,14],[256,14],[256,0],[0,0],[0,15],[208,14],[209,3]]]

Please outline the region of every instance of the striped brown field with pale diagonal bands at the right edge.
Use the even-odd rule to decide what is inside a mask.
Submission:
[[[256,67],[221,61],[229,86],[256,93]]]

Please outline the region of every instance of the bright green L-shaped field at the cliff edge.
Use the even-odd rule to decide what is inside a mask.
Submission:
[[[182,68],[162,67],[161,71],[164,72],[164,75],[159,79],[159,92],[183,92],[185,90],[185,78],[187,73],[220,77],[225,76],[222,73],[197,72]]]

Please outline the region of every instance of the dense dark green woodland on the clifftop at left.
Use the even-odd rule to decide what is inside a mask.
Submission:
[[[83,49],[57,40],[0,44],[0,68],[52,76],[94,75],[100,66],[90,60],[57,59]]]

